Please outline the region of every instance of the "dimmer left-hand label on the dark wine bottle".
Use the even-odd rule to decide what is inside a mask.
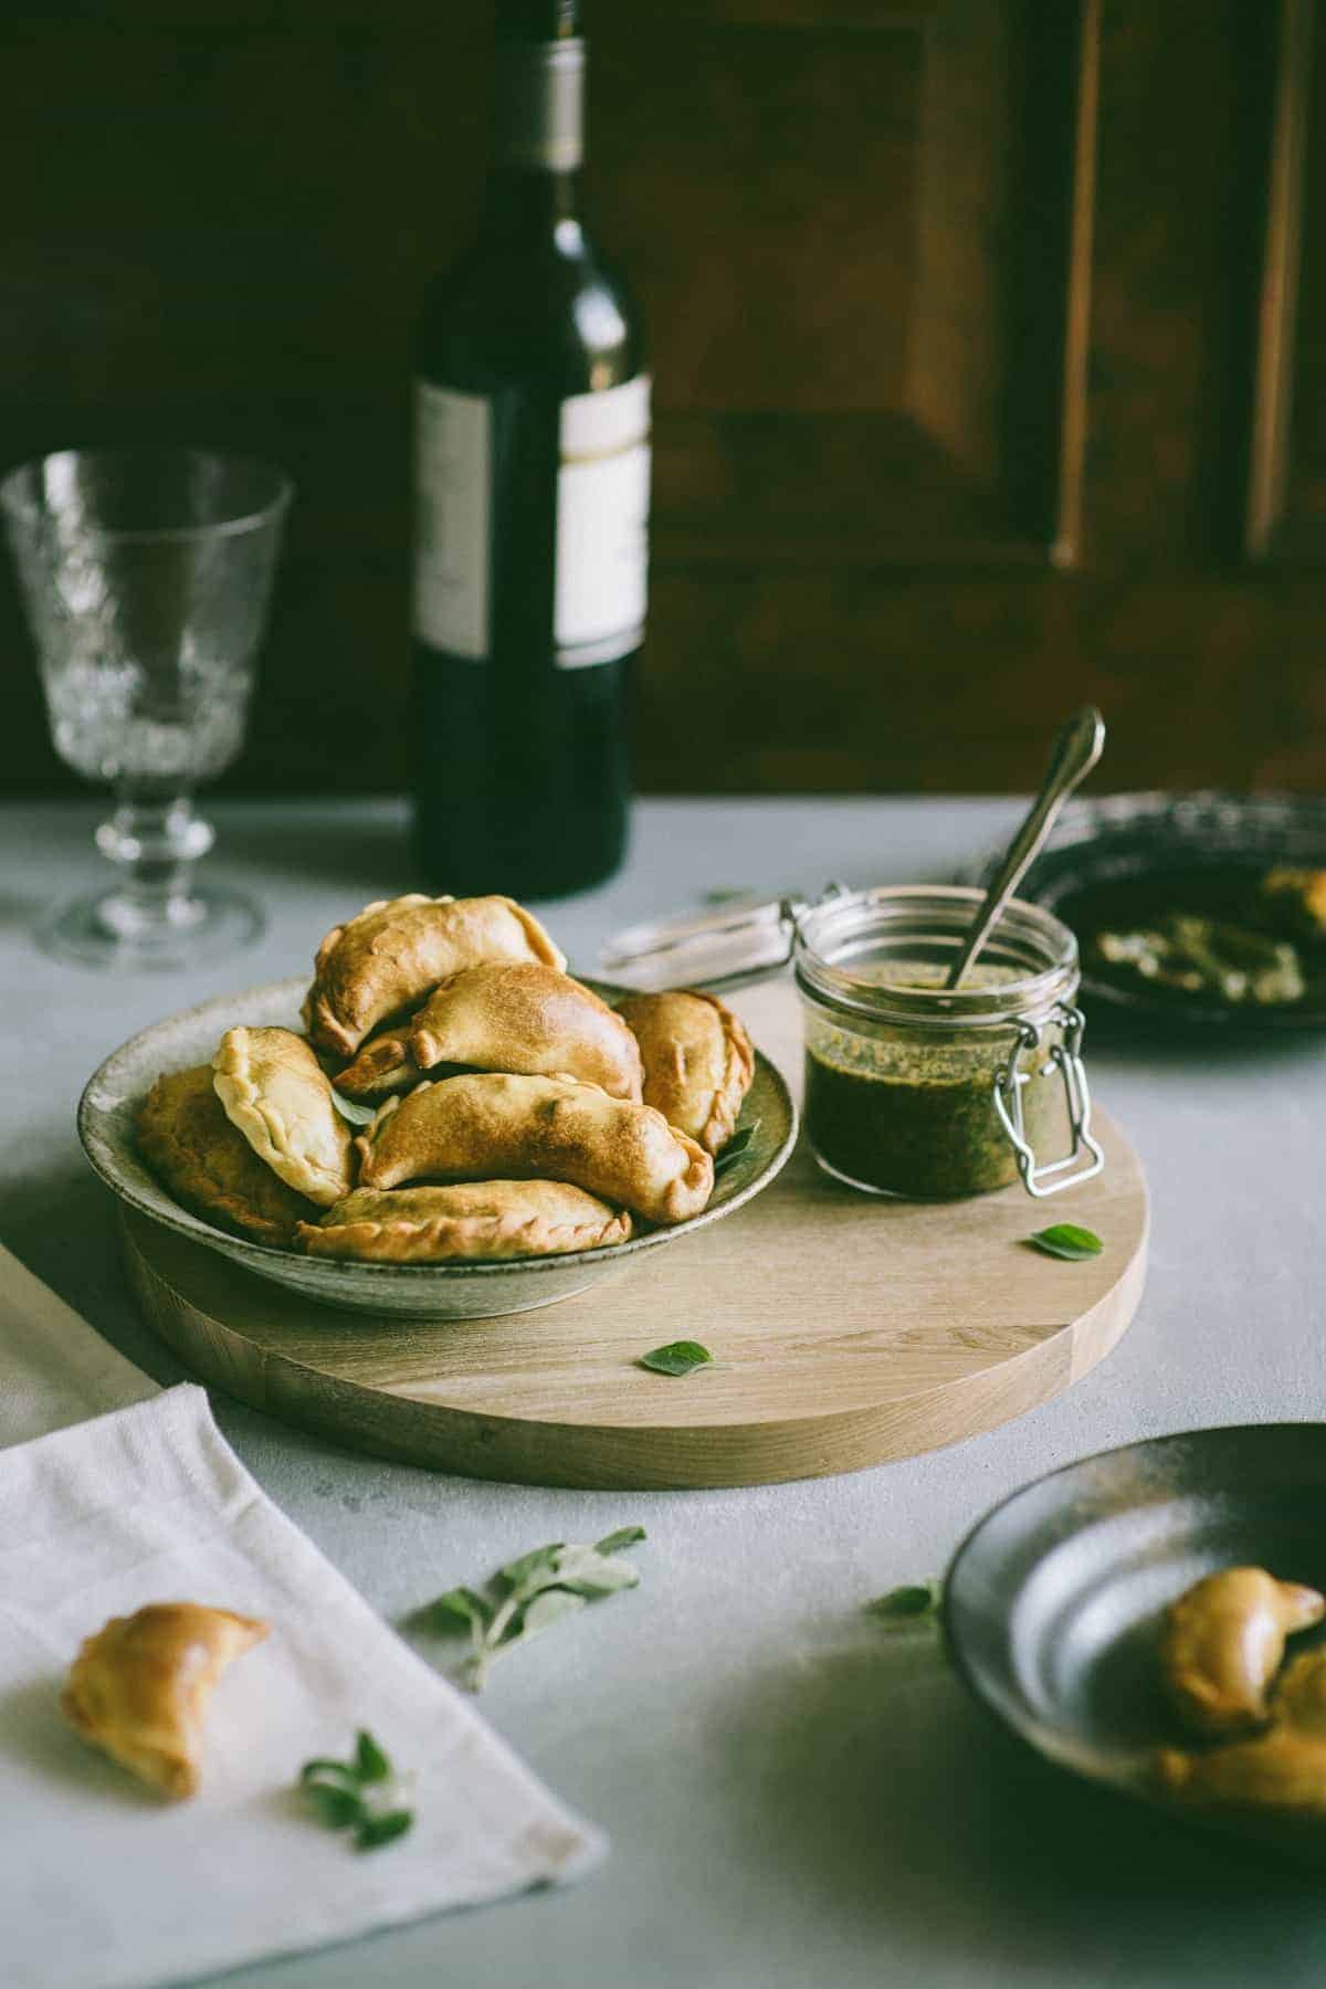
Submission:
[[[415,384],[414,633],[475,662],[489,652],[491,428],[481,394]]]

